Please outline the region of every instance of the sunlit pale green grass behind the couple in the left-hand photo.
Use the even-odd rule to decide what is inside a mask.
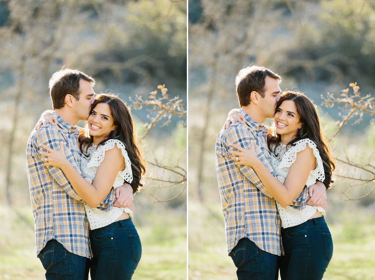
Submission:
[[[21,216],[15,210],[0,208],[0,280],[44,279],[45,270],[35,252],[31,209],[18,213]],[[133,279],[187,279],[186,219],[173,210],[153,213],[145,219],[142,226],[136,225],[142,258]]]

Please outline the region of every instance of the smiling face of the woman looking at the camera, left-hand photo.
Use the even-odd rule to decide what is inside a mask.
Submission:
[[[92,109],[87,123],[89,125],[89,134],[94,137],[95,145],[107,139],[111,131],[116,128],[110,106],[106,103],[98,103]]]

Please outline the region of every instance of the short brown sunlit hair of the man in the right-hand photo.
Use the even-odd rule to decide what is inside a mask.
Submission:
[[[236,76],[236,92],[240,106],[248,106],[251,102],[252,91],[257,91],[264,98],[266,93],[266,77],[276,79],[279,84],[281,77],[266,67],[248,66],[238,72]]]

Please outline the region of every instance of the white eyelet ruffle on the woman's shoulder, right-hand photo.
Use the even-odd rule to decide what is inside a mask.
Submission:
[[[282,157],[278,167],[279,169],[289,168],[296,161],[297,153],[305,150],[306,144],[312,148],[314,156],[317,159],[316,168],[311,172],[311,174],[314,175],[319,181],[323,182],[326,178],[324,175],[323,160],[320,157],[317,144],[308,138],[297,141],[295,146],[289,147],[288,151],[286,151]]]

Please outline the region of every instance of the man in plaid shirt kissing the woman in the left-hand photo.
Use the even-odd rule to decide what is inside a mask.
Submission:
[[[60,168],[43,165],[40,145],[59,150],[65,142],[66,156],[81,174],[78,148],[79,120],[87,120],[95,100],[90,76],[72,69],[60,70],[49,81],[54,111],[51,114],[57,124],[46,124],[33,130],[27,142],[27,173],[31,205],[35,223],[37,257],[46,270],[46,279],[87,279],[89,258],[89,222],[83,200],[77,195]],[[43,113],[44,114],[44,113]],[[92,180],[86,178],[90,183]],[[121,188],[121,189],[120,189]],[[110,211],[113,206],[133,208],[132,187],[125,184],[116,194],[114,191],[98,206]],[[116,189],[116,191],[117,191]]]

